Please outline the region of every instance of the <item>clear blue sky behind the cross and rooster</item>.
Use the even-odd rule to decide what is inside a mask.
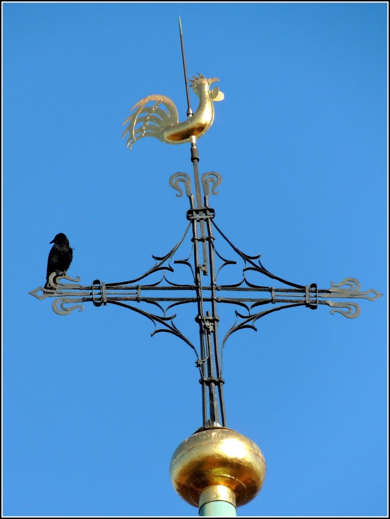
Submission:
[[[193,351],[135,312],[59,316],[28,294],[57,233],[82,284],[134,279],[179,241],[168,181],[189,146],[121,140],[149,94],[185,119],[178,15],[188,74],[225,94],[198,141],[223,176],[216,223],[281,278],[384,294],[357,319],[293,308],[229,339],[227,426],[267,462],[238,514],[387,515],[385,3],[3,4],[3,514],[197,514],[169,480],[201,426]]]

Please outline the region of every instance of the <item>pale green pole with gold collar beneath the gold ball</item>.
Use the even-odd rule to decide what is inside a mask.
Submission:
[[[205,488],[199,498],[199,515],[203,517],[236,517],[236,496],[224,485]]]

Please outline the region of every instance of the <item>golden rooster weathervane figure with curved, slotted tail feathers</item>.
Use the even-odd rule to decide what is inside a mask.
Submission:
[[[142,137],[155,137],[167,144],[182,144],[190,142],[192,136],[199,139],[207,132],[214,119],[214,101],[222,101],[224,94],[218,87],[209,89],[212,83],[219,81],[218,77],[208,79],[199,73],[198,76],[190,81],[199,98],[199,106],[183,122],[179,122],[175,103],[165,95],[148,95],[131,108],[134,112],[124,121],[123,126],[129,124],[122,134],[123,139],[128,133],[126,146],[129,149]]]

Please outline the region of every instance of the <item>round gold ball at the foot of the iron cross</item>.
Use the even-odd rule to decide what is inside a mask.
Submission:
[[[172,485],[195,507],[202,491],[213,485],[233,490],[240,507],[258,494],[265,473],[264,456],[257,445],[226,427],[200,429],[178,446],[170,462]]]

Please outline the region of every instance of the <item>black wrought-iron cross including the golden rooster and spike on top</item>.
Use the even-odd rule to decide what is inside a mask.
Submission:
[[[181,26],[180,26],[181,29]],[[182,33],[181,42],[182,42]],[[191,161],[193,163],[193,182],[189,174],[177,172],[171,175],[169,184],[182,197],[184,191],[189,198],[190,208],[186,212],[189,223],[179,242],[164,256],[153,256],[155,264],[145,274],[134,279],[105,283],[95,279],[91,285],[80,285],[80,278],[71,278],[63,273],[53,272],[48,284],[51,288],[39,286],[30,292],[38,299],[54,298],[52,308],[59,315],[69,315],[75,309],[83,310],[83,303],[92,302],[95,306],[114,304],[131,309],[150,319],[158,332],[171,333],[189,345],[196,354],[196,367],[199,370],[202,391],[203,427],[213,424],[226,426],[225,404],[223,398],[222,353],[227,339],[243,329],[256,331],[255,323],[271,312],[286,308],[305,306],[316,309],[318,305],[331,307],[331,313],[340,313],[348,318],[356,318],[360,307],[350,299],[374,301],[382,296],[370,289],[360,290],[360,283],[354,278],[345,278],[340,283],[330,282],[327,289],[318,289],[315,283],[302,285],[286,281],[271,274],[260,261],[260,255],[250,256],[240,251],[215,224],[214,210],[209,206],[211,195],[217,195],[222,177],[216,172],[206,172],[199,177],[199,155],[196,138],[204,135],[210,128],[214,109],[213,102],[223,99],[218,88],[209,89],[217,78],[198,75],[192,80],[192,88],[199,97],[195,113],[190,106],[189,89],[186,79],[184,48],[182,43],[184,78],[187,93],[187,120],[178,122],[178,112],[174,103],[163,95],[150,95],[136,103],[134,113],[126,119],[129,123],[123,136],[128,133],[127,147],[142,137],[153,136],[167,144],[191,142]],[[151,106],[148,106],[152,103]],[[165,108],[165,110],[163,109]],[[184,188],[184,190],[183,190]],[[202,193],[203,192],[203,193]],[[189,251],[184,258],[177,253],[184,247],[185,238],[192,238]],[[235,255],[235,259],[225,258],[219,249],[219,242]],[[190,260],[191,256],[193,261]],[[242,263],[238,269],[238,279],[234,282],[220,283],[220,272],[228,266]],[[177,265],[189,268],[189,281],[185,284],[171,279]],[[237,270],[237,269],[236,269]],[[264,286],[254,282],[253,276],[266,276],[284,286]],[[203,280],[205,278],[205,281]],[[64,283],[68,280],[72,283]],[[337,301],[331,301],[337,299]],[[341,301],[346,299],[347,301]],[[176,324],[175,313],[182,305],[196,308],[197,340],[191,340]],[[219,339],[218,305],[235,305],[236,321]],[[70,306],[64,306],[70,305]],[[153,312],[146,307],[152,305]],[[175,312],[174,312],[175,309]],[[198,344],[196,344],[198,342]]]

